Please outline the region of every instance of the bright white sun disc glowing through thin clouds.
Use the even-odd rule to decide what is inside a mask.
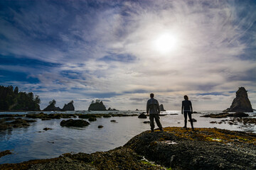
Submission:
[[[176,49],[176,38],[170,33],[161,34],[154,40],[154,47],[158,52],[167,54]]]

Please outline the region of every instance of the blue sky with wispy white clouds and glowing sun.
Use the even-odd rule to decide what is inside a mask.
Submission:
[[[256,108],[256,1],[0,1],[0,85],[84,110]]]

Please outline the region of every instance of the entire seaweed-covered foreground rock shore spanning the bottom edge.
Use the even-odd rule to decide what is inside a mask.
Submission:
[[[0,169],[256,169],[256,135],[217,128],[169,127],[164,132],[142,132],[108,152],[63,154],[1,164]]]

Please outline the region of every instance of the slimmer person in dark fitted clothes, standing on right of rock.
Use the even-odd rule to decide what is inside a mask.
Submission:
[[[186,123],[187,123],[187,115],[188,115],[188,118],[191,121],[191,128],[193,129],[193,121],[191,116],[191,114],[193,113],[192,103],[191,101],[188,101],[188,96],[185,95],[184,99],[185,101],[182,101],[182,106],[181,106],[181,114],[184,113],[184,118],[185,118],[185,126],[183,128],[187,128]]]

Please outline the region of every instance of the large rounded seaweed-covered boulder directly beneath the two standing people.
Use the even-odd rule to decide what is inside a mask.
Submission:
[[[245,132],[174,127],[142,132],[124,147],[172,169],[255,169],[255,140]]]

